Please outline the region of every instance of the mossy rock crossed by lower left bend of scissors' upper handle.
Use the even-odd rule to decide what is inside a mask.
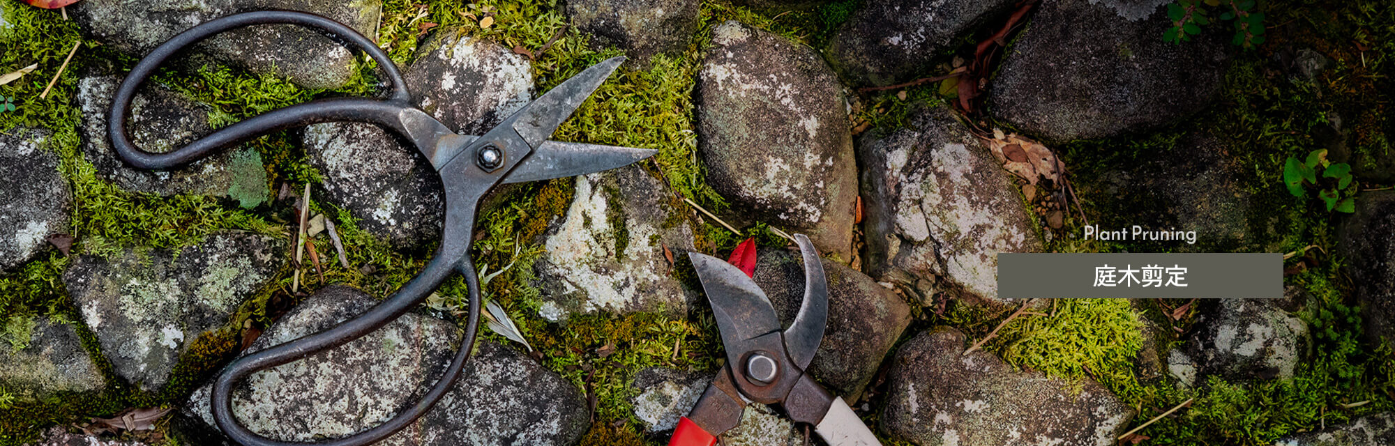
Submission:
[[[96,75],[78,81],[78,107],[82,110],[82,156],[98,176],[121,188],[158,195],[195,194],[230,198],[244,208],[262,203],[268,197],[266,169],[261,155],[251,148],[236,148],[194,162],[188,166],[152,171],[127,166],[116,156],[106,138],[106,117],[120,79]],[[135,95],[127,131],[135,146],[146,152],[169,152],[212,132],[208,105],[197,103],[158,84]]]

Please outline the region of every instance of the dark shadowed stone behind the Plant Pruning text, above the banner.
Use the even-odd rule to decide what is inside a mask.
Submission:
[[[1208,134],[1186,134],[1170,146],[1147,151],[1127,163],[1083,173],[1073,184],[1102,212],[1101,230],[1133,224],[1196,231],[1187,240],[1123,241],[1136,252],[1281,252],[1289,213],[1256,195],[1253,167]]]

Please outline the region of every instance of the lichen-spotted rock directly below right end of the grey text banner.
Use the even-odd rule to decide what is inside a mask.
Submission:
[[[1202,302],[1193,333],[1168,354],[1168,369],[1182,385],[1201,376],[1228,380],[1293,378],[1310,355],[1307,323],[1269,300],[1225,298]]]

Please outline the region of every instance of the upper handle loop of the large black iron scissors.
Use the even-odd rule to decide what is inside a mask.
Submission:
[[[131,142],[131,138],[126,131],[126,120],[131,110],[131,100],[135,99],[135,91],[141,86],[141,84],[145,84],[145,79],[149,78],[166,59],[174,56],[187,46],[195,45],[229,29],[273,24],[311,28],[342,45],[363,50],[368,54],[368,57],[372,57],[372,60],[378,63],[378,68],[386,74],[388,84],[392,85],[392,95],[388,96],[388,99],[340,98],[294,105],[220,128],[208,137],[165,153],[145,152]],[[135,64],[135,68],[131,68],[131,72],[126,75],[124,81],[121,81],[121,86],[116,91],[116,98],[112,100],[112,113],[107,118],[107,137],[112,139],[112,148],[116,149],[117,156],[134,167],[146,170],[173,169],[199,160],[218,149],[251,141],[278,130],[308,124],[335,121],[371,123],[386,125],[400,134],[405,130],[402,128],[398,114],[403,109],[412,107],[410,102],[412,93],[407,91],[407,84],[402,79],[402,72],[398,70],[398,66],[393,64],[392,60],[388,59],[388,54],[378,49],[372,40],[368,40],[368,38],[364,38],[353,28],[308,13],[241,13],[190,28],[188,31],[176,35],[169,42],[155,47],[155,50],[146,54],[145,59],[141,59],[141,61]]]

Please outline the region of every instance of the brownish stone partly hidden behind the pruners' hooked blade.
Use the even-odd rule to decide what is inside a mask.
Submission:
[[[830,393],[857,401],[876,375],[901,332],[911,323],[911,307],[866,275],[823,261],[829,282],[829,322],[823,341],[806,369]],[[756,284],[788,326],[804,302],[804,261],[798,252],[762,249],[756,254]]]

